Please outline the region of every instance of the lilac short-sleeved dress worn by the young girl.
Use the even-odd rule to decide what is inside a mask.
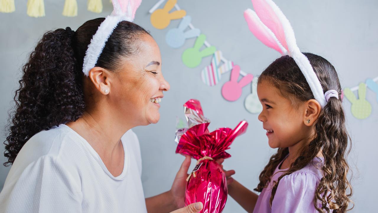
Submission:
[[[313,162],[303,169],[283,177],[278,184],[272,208],[270,208],[269,200],[273,181],[277,181],[285,171],[285,169],[279,169],[281,162],[274,171],[271,182],[260,193],[253,213],[317,213],[314,198],[316,187],[322,178],[322,171],[319,169],[321,163],[319,158],[314,158]],[[318,206],[321,207],[320,204]]]

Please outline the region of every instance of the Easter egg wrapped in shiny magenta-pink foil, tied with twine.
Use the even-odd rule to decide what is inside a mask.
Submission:
[[[189,155],[198,162],[186,184],[185,204],[202,202],[200,213],[221,213],[227,200],[227,181],[223,169],[215,160],[228,158],[232,141],[245,133],[248,123],[241,121],[234,129],[218,128],[209,132],[210,121],[203,116],[198,100],[191,99],[184,104],[188,128],[176,131],[175,141],[178,143],[176,153]],[[195,174],[193,174],[195,173]]]

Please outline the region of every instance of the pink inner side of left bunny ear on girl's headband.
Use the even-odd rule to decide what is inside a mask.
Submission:
[[[266,46],[277,50],[282,55],[286,55],[286,50],[274,36],[273,32],[261,22],[257,14],[251,10],[244,11],[244,18],[248,23],[249,30]]]

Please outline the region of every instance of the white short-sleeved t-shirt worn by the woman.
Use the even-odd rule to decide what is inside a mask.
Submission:
[[[146,213],[139,141],[121,138],[125,162],[114,177],[90,144],[67,125],[41,131],[22,147],[0,193],[0,213]]]

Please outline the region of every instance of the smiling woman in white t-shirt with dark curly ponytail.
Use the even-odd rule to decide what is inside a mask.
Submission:
[[[85,52],[103,21],[89,20],[76,32],[47,32],[30,54],[5,142],[5,165],[12,168],[0,212],[201,210],[201,203],[182,208],[189,157],[171,190],[144,199],[139,142],[131,128],[159,121],[169,83],[158,45],[128,21],[119,22],[95,67],[83,75]]]

